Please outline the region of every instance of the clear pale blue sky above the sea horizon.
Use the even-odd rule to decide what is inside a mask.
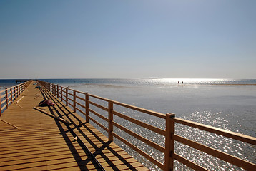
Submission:
[[[255,0],[0,0],[0,78],[256,78]]]

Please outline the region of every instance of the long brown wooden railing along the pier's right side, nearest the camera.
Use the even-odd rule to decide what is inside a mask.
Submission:
[[[89,120],[92,120],[92,122],[99,125],[100,128],[103,130],[106,130],[108,133],[109,141],[113,141],[113,138],[117,138],[121,142],[124,142],[124,144],[131,147],[133,150],[138,152],[140,155],[147,158],[149,161],[154,163],[154,165],[157,165],[162,170],[173,170],[174,167],[174,160],[177,160],[179,162],[182,162],[184,165],[187,165],[188,167],[191,167],[194,170],[206,170],[204,167],[197,165],[195,162],[192,162],[190,160],[187,160],[185,157],[182,157],[181,155],[177,155],[174,151],[174,142],[181,142],[184,145],[188,145],[192,148],[195,148],[197,150],[200,150],[202,152],[205,152],[209,155],[212,155],[214,157],[219,158],[220,160],[224,160],[226,162],[230,162],[232,165],[236,165],[237,167],[242,167],[245,170],[256,170],[256,165],[252,162],[248,162],[246,160],[242,160],[238,157],[234,157],[232,155],[229,155],[225,152],[221,152],[220,150],[215,150],[212,147],[207,147],[206,145],[202,145],[198,142],[189,140],[187,138],[183,138],[180,135],[176,135],[174,133],[175,129],[175,123],[187,125],[192,128],[198,128],[200,130],[205,130],[210,133],[215,133],[217,135],[223,135],[227,138],[232,138],[234,140],[240,140],[241,142],[247,142],[251,145],[256,145],[256,138],[242,135],[240,133],[234,133],[228,130],[223,130],[220,128],[214,128],[212,126],[203,125],[200,123],[195,123],[189,120],[183,120],[180,118],[175,118],[174,114],[163,114],[163,113],[157,113],[152,110],[146,110],[143,108],[138,108],[133,105],[127,105],[124,103],[119,103],[114,100],[109,100],[107,98],[102,98],[97,95],[92,95],[89,93],[80,92],[77,90],[70,89],[68,87],[59,86],[53,83],[47,83],[44,81],[39,81],[42,87],[46,88],[46,90],[49,90],[50,93],[56,96],[56,98],[59,98],[61,101],[64,101],[66,105],[69,105],[73,108],[74,112],[77,110],[85,115],[86,121],[89,122]],[[99,103],[94,102],[92,99],[102,100],[105,103],[107,103],[107,107],[104,105],[100,105]],[[80,101],[80,102],[78,102]],[[82,104],[84,103],[84,104]],[[102,115],[101,113],[98,113],[95,110],[92,110],[92,107],[99,108],[107,113],[107,116]],[[144,123],[140,120],[136,120],[128,115],[124,115],[122,113],[119,113],[115,110],[115,108],[118,108],[118,106],[122,108],[127,108],[130,110],[136,110],[140,113],[146,113],[148,115],[153,115],[157,118],[162,118],[165,120],[165,130],[161,128],[157,128],[154,125],[149,125],[148,123]],[[114,108],[115,107],[115,108]],[[92,118],[91,115],[96,115],[97,117],[101,118],[102,120],[105,120],[107,122],[107,126],[104,126],[102,123],[99,123],[97,120]],[[156,142],[153,142],[152,140],[149,140],[147,138],[144,138],[143,136],[139,135],[138,133],[134,133],[132,130],[129,130],[124,125],[120,125],[119,123],[114,120],[114,116],[118,116],[119,118],[122,118],[124,120],[127,120],[131,123],[134,123],[142,128],[147,128],[148,130],[151,130],[154,133],[158,133],[159,135],[163,135],[165,138],[165,144],[164,147],[162,145],[157,144]],[[131,142],[126,140],[125,138],[122,138],[120,135],[117,135],[117,133],[114,132],[113,127],[119,128],[120,130],[124,131],[125,133],[132,135],[134,138],[137,138],[138,140],[144,142],[145,144],[154,147],[154,149],[159,150],[159,152],[162,152],[164,154],[164,163],[159,162],[159,160],[156,160],[154,157],[149,155],[147,152],[141,150],[136,145],[133,145]]]

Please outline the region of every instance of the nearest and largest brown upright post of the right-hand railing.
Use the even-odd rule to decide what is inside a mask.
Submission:
[[[172,118],[175,117],[175,114],[167,113],[166,114],[166,135],[165,135],[165,152],[164,152],[164,167],[165,171],[173,170],[173,161],[174,161],[174,126],[175,123]]]

